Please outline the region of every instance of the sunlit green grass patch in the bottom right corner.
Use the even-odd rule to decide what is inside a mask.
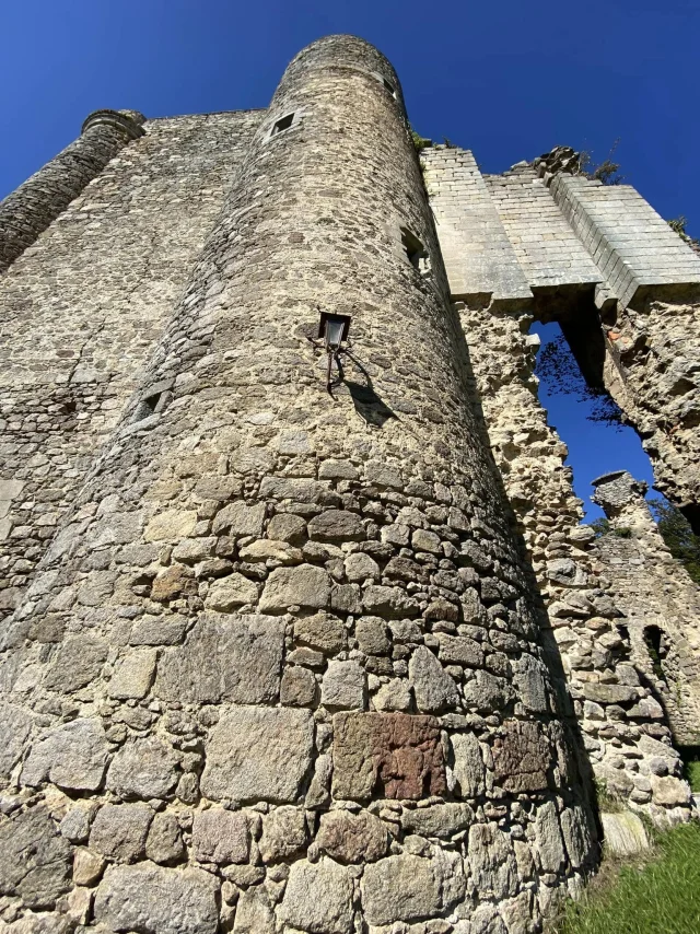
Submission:
[[[635,859],[603,861],[579,902],[569,902],[550,934],[698,934],[700,824],[660,834]]]

